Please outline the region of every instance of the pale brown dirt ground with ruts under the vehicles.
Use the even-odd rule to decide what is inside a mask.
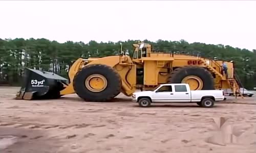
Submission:
[[[255,95],[237,100],[227,96],[214,108],[139,108],[121,94],[111,103],[89,103],[75,94],[29,101],[13,99],[18,90],[0,87],[1,153],[256,152]],[[220,117],[235,128],[216,132],[212,118]],[[232,132],[238,138],[231,141]]]

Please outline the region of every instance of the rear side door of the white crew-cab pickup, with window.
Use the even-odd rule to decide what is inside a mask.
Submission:
[[[190,102],[190,91],[187,90],[186,85],[174,85],[173,101],[175,102]]]

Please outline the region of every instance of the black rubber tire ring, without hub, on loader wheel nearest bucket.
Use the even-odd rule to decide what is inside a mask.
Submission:
[[[107,85],[100,92],[89,90],[86,85],[86,79],[92,74],[102,75]],[[83,67],[74,77],[73,87],[76,94],[86,101],[109,101],[120,93],[121,90],[120,75],[110,66],[103,64],[92,64]]]

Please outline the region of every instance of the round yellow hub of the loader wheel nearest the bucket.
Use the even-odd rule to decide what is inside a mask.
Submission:
[[[86,87],[92,92],[103,91],[108,85],[108,81],[103,75],[92,74],[85,81]]]

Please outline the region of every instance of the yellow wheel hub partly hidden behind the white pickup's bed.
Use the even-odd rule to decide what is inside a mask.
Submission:
[[[181,83],[188,84],[191,90],[202,90],[203,88],[203,81],[195,75],[185,77]]]

